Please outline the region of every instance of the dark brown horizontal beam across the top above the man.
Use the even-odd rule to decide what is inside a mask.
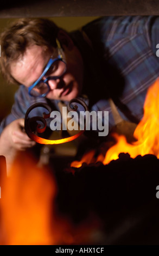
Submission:
[[[0,17],[157,15],[158,0],[3,1]]]

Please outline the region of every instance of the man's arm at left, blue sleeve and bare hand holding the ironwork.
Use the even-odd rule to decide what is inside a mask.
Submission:
[[[20,87],[15,94],[15,103],[12,106],[11,114],[1,122],[0,155],[6,157],[8,166],[18,151],[24,151],[36,144],[24,131],[25,113],[33,103],[35,103],[34,99],[29,99],[27,90]]]

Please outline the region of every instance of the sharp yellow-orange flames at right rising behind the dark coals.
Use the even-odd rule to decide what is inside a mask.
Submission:
[[[133,137],[135,142],[128,143],[125,136],[113,134],[116,139],[116,144],[107,150],[105,156],[99,155],[94,160],[92,155],[92,162],[103,162],[108,164],[112,160],[118,159],[119,153],[129,153],[134,159],[138,155],[152,154],[159,158],[159,78],[148,89],[147,97],[144,103],[144,116],[140,123],[137,125]],[[92,152],[93,153],[93,152]],[[90,154],[90,153],[89,153]],[[81,167],[82,163],[90,163],[91,160],[87,155],[84,155],[81,161],[72,162],[72,167]]]

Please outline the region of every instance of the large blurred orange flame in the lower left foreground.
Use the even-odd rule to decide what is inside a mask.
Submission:
[[[21,155],[2,183],[1,245],[55,245],[65,238],[65,222],[55,217],[57,187],[49,170]]]

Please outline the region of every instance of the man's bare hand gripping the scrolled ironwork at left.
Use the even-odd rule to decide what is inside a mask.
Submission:
[[[24,131],[24,119],[17,119],[3,130],[0,137],[0,153],[3,151],[7,153],[10,149],[24,151],[35,144],[36,142],[32,141]]]

